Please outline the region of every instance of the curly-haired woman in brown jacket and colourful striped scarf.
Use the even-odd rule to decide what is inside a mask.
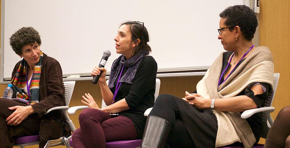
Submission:
[[[10,45],[23,58],[12,71],[13,98],[27,103],[0,98],[1,147],[13,147],[17,137],[38,134],[39,147],[44,147],[47,140],[66,133],[61,111],[45,114],[52,107],[65,105],[62,70],[57,60],[40,50],[40,35],[33,27],[16,31]]]

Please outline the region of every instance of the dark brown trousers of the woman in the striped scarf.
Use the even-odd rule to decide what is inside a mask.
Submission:
[[[15,110],[9,110],[12,106],[27,106],[14,100],[0,98],[0,147],[12,148],[15,139],[23,136],[39,134],[39,116],[37,113],[29,115],[19,125],[7,125],[6,118]]]

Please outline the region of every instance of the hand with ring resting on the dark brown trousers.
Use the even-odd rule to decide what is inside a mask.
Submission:
[[[15,110],[7,119],[8,125],[19,125],[24,119],[30,114],[34,113],[35,110],[32,106],[13,106],[9,107],[10,110]]]

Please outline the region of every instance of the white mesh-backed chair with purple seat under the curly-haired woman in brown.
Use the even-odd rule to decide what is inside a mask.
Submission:
[[[70,120],[70,118],[68,117],[68,114],[66,113],[66,110],[68,110],[68,104],[70,102],[70,99],[72,98],[72,94],[73,94],[73,88],[75,86],[76,81],[66,81],[64,82],[64,98],[65,98],[65,102],[66,102],[66,106],[57,106],[57,107],[53,107],[51,109],[48,109],[47,113],[51,112],[52,110],[56,110],[56,109],[61,109],[64,113],[64,116],[68,122],[68,126],[70,128],[71,131],[76,130],[75,126],[73,125],[73,122]],[[69,139],[71,139],[70,137],[61,137],[60,139],[56,139],[56,140],[50,140],[47,142],[47,144],[44,146],[45,148],[47,147],[51,147],[51,146],[57,146],[57,145],[66,145],[67,148],[69,147]],[[24,136],[24,137],[19,137],[16,139],[15,141],[15,145],[14,146],[20,146],[21,148],[24,148],[24,146],[32,146],[32,145],[38,145],[39,144],[39,135],[33,135],[33,136]]]

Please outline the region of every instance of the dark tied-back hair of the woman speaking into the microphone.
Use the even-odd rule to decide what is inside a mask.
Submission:
[[[142,23],[129,21],[129,22],[122,23],[121,26],[122,25],[129,25],[129,30],[130,30],[130,32],[132,34],[132,38],[131,39],[136,44],[136,47],[132,51],[132,56],[134,56],[139,51],[151,52],[151,47],[147,44],[147,42],[149,42],[149,34],[148,34],[148,31],[147,31],[145,26],[144,26],[144,29],[143,29],[143,24]],[[138,40],[137,39],[140,39],[140,43],[139,44],[138,44]]]

